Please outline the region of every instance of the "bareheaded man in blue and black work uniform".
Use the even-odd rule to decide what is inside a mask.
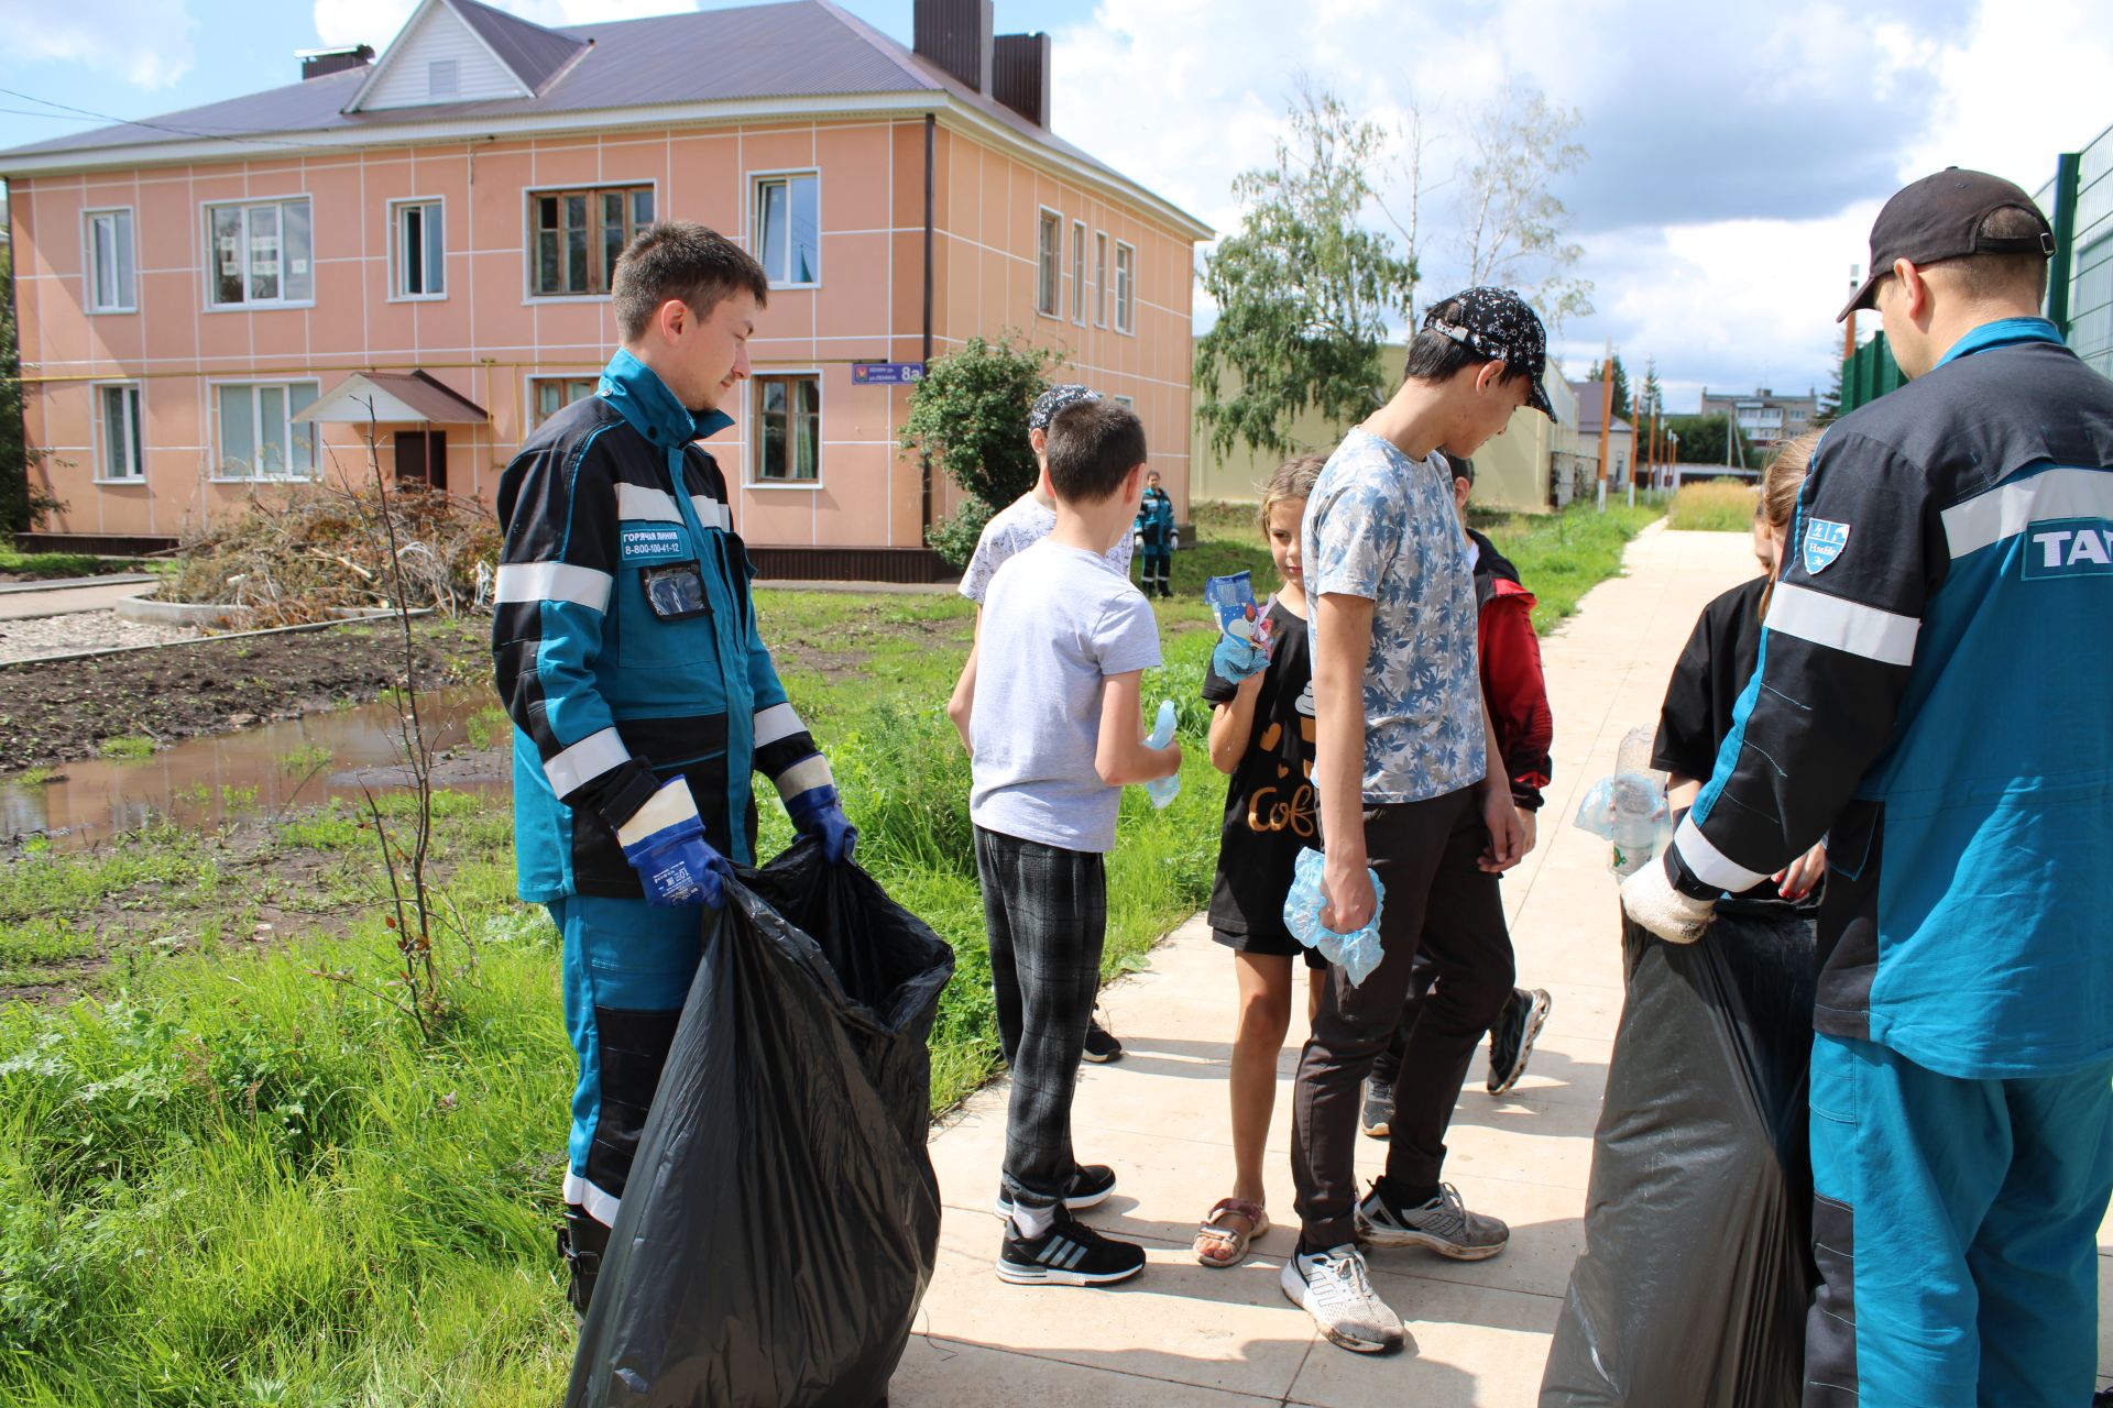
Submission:
[[[594,1294],[682,998],[702,908],[754,863],[765,773],[830,863],[858,834],[756,633],[727,479],[695,441],[733,424],[769,281],[689,222],[640,232],[611,302],[623,346],[499,481],[492,654],[513,716],[522,899],[564,933],[579,1051],[560,1250]]]

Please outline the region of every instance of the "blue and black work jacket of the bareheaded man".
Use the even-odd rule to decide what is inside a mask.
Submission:
[[[695,443],[727,424],[619,350],[499,481],[492,657],[522,899],[642,895],[617,827],[672,777],[735,863],[754,861],[750,770],[788,800],[830,785],[756,633],[727,479]]]

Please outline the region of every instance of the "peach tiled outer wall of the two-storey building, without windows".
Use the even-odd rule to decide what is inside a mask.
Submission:
[[[923,350],[923,118],[750,122],[725,129],[543,137],[391,148],[292,160],[239,160],[53,175],[13,184],[17,306],[32,386],[27,433],[66,513],[61,532],[184,534],[243,511],[251,481],[218,479],[224,380],[311,380],[330,393],[349,372],[423,367],[482,405],[488,424],[448,433],[448,483],[486,505],[528,431],[530,378],[592,376],[615,346],[606,300],[526,291],[526,192],[547,186],[651,184],[659,217],[699,220],[750,241],[756,173],[820,171],[822,281],[773,293],[750,342],[756,372],[822,382],[822,475],[759,486],[750,395],[710,441],[737,524],[759,545],[919,547],[921,471],[894,448],[909,388],[854,386],[860,359],[917,361]],[[304,194],[315,226],[315,302],[209,308],[203,209]],[[391,211],[437,198],[446,224],[446,298],[391,300]],[[1035,213],[1059,209],[1088,232],[1137,247],[1135,334],[1033,312]],[[89,315],[82,211],[131,207],[137,312]],[[970,334],[1027,331],[1059,346],[1080,380],[1133,397],[1158,464],[1185,505],[1190,241],[1016,156],[940,125],[934,253],[934,355]],[[1090,236],[1088,236],[1090,239]],[[1088,253],[1088,279],[1092,258]],[[1063,310],[1069,315],[1069,249]],[[139,483],[97,483],[93,386],[137,382],[146,439]],[[382,426],[382,464],[393,469]],[[366,473],[351,426],[325,426],[325,475]],[[945,496],[938,509],[945,509]]]

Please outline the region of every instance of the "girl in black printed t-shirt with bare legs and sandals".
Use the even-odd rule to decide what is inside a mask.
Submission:
[[[1276,1058],[1291,1028],[1291,973],[1310,971],[1308,1011],[1327,963],[1285,929],[1285,895],[1299,851],[1319,849],[1314,813],[1314,692],[1306,652],[1306,578],[1299,572],[1299,519],[1325,456],[1291,460],[1270,477],[1261,532],[1283,589],[1268,604],[1270,652],[1249,652],[1226,638],[1211,657],[1202,697],[1211,711],[1211,764],[1230,775],[1226,825],[1211,891],[1211,937],[1234,950],[1240,984],[1232,1043],[1232,1197],[1219,1199],[1196,1229],[1196,1260],[1236,1267],[1268,1231],[1261,1146],[1276,1104]]]

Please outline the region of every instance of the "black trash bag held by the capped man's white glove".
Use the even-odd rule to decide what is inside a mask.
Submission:
[[[1623,918],[1629,992],[1540,1408],[1796,1408],[1813,1288],[1813,920]]]

